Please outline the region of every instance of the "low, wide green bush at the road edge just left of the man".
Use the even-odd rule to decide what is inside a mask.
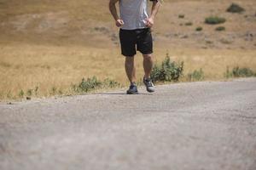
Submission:
[[[79,84],[72,84],[73,91],[76,93],[87,93],[94,89],[99,88],[116,88],[119,87],[119,82],[115,82],[110,79],[105,79],[103,82],[96,77],[82,79]]]

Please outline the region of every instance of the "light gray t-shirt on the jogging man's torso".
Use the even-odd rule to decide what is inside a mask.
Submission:
[[[119,0],[121,20],[125,24],[124,30],[136,30],[146,28],[148,19],[148,0]]]

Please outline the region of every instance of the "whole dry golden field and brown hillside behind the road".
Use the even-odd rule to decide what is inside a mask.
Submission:
[[[246,11],[226,13],[232,2]],[[204,23],[211,15],[227,20],[220,25],[225,31]],[[188,22],[192,26],[186,26]],[[203,30],[195,31],[198,26]],[[19,99],[21,90],[36,88],[38,97],[53,95],[53,88],[59,94],[73,94],[71,84],[83,77],[128,83],[108,1],[0,0],[0,32],[0,100]],[[202,68],[207,80],[224,79],[227,66],[256,71],[253,0],[166,0],[153,34],[155,61],[163,60],[166,53],[184,61],[184,76]],[[136,59],[139,80],[142,56]]]

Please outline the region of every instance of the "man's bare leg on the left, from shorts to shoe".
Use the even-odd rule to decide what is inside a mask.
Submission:
[[[129,81],[136,82],[136,68],[134,66],[134,56],[125,57],[125,71]]]

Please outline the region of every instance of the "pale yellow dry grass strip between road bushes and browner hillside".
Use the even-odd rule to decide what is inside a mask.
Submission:
[[[184,75],[202,68],[208,80],[223,79],[227,66],[256,68],[255,50],[210,50],[160,48],[156,44],[155,60],[166,52],[171,59],[184,61]],[[143,77],[142,56],[136,58],[137,77]],[[0,99],[17,99],[20,91],[38,87],[38,96],[49,96],[52,88],[73,94],[72,83],[83,77],[110,78],[127,85],[124,58],[119,48],[54,47],[15,44],[1,46]]]

